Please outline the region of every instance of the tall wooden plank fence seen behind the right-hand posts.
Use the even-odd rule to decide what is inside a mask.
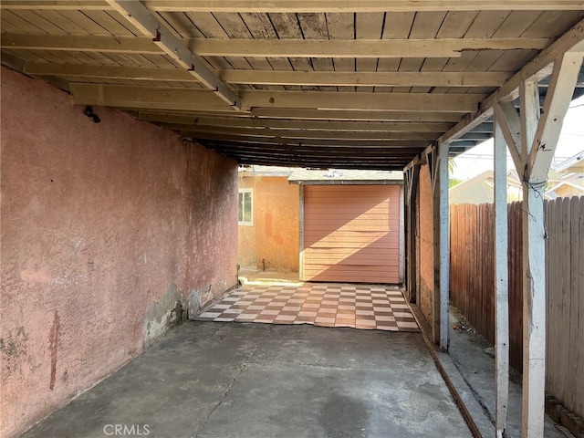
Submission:
[[[451,205],[450,295],[476,330],[495,342],[493,204]],[[548,201],[546,211],[547,391],[584,417],[584,197]],[[521,203],[508,205],[509,355],[523,351]]]

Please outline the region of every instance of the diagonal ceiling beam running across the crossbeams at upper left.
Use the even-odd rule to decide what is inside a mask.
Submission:
[[[108,4],[128,22],[152,38],[155,46],[172,57],[180,66],[197,78],[203,85],[235,110],[241,109],[241,99],[227,85],[205,66],[203,60],[195,55],[183,42],[158,20],[156,16],[139,1],[107,0]]]

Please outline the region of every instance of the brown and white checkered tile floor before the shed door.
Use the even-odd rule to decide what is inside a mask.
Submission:
[[[401,290],[383,285],[245,285],[196,319],[418,331]]]

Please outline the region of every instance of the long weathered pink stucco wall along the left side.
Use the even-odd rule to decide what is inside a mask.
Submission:
[[[2,68],[1,436],[236,281],[235,162]]]

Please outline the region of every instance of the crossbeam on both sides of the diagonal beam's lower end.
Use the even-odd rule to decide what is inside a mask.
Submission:
[[[134,110],[214,110],[222,100],[212,91],[72,83],[74,103]],[[483,95],[422,93],[353,93],[302,91],[241,91],[243,108],[296,108],[327,110],[392,110],[473,112]],[[226,105],[223,105],[223,108]]]

